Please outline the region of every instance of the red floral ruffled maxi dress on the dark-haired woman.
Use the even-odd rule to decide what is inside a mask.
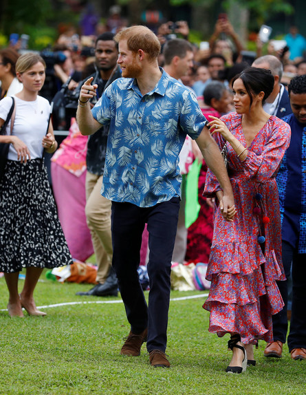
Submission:
[[[246,147],[241,115],[221,118]],[[289,145],[290,127],[270,116],[256,135],[243,162],[227,143],[228,174],[237,215],[233,222],[215,209],[214,235],[206,279],[212,281],[204,309],[210,311],[209,331],[222,337],[237,332],[243,343],[272,342],[272,314],[283,308],[276,280],[284,280],[281,261],[281,217],[275,176]],[[215,139],[224,145],[221,134]],[[242,150],[242,148],[241,148]],[[208,170],[204,194],[220,190]]]

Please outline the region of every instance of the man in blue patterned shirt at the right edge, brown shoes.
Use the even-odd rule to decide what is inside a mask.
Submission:
[[[285,275],[292,268],[292,316],[288,348],[292,359],[306,359],[306,74],[292,78],[288,86],[293,114],[283,120],[291,127],[291,141],[276,181],[282,221]],[[273,343],[265,356],[281,357],[287,337],[287,280],[278,281],[285,306],[272,317]]]

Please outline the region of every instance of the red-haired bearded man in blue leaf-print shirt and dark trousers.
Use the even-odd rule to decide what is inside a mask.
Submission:
[[[220,209],[233,220],[234,198],[221,153],[206,127],[195,95],[158,67],[160,42],[144,26],[115,36],[122,77],[96,95],[89,78],[80,92],[78,125],[84,135],[109,125],[101,193],[112,201],[113,268],[131,332],[121,354],[138,356],[146,341],[152,366],[169,367],[166,330],[170,300],[171,257],[179,211],[179,151],[186,134],[197,141],[223,190]],[[149,306],[140,286],[142,231],[149,231]]]

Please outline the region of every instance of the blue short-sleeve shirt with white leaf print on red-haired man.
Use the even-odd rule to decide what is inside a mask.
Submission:
[[[103,196],[140,207],[180,196],[179,151],[207,122],[190,89],[164,70],[144,96],[136,80],[118,78],[91,111],[109,125]]]

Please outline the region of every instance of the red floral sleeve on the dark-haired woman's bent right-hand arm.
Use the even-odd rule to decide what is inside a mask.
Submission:
[[[238,164],[247,178],[256,178],[258,182],[270,180],[277,173],[290,142],[291,129],[286,122],[275,117],[268,127],[269,138],[263,144],[263,151],[258,154],[249,150],[245,160]]]

